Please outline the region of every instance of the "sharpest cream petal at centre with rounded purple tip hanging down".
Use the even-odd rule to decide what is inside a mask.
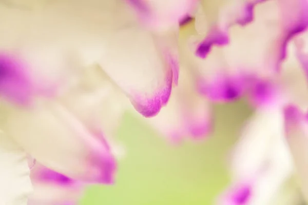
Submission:
[[[126,49],[124,49],[126,48]],[[172,67],[147,31],[129,28],[115,33],[100,65],[129,96],[142,115],[156,115],[169,99]]]

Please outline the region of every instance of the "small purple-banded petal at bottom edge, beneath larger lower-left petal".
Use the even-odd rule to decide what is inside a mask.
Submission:
[[[34,192],[29,205],[77,204],[84,186],[81,182],[52,171],[42,165],[31,170]]]

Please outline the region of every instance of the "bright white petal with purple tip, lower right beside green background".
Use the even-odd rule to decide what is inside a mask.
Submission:
[[[231,161],[233,185],[218,204],[276,204],[278,195],[293,174],[293,164],[284,140],[280,110],[258,111],[249,119]],[[277,197],[278,196],[278,197]],[[294,204],[286,200],[279,204]]]

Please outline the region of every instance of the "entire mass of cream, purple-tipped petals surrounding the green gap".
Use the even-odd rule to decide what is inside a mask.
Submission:
[[[66,188],[68,202],[76,200],[80,183],[112,183],[117,164],[110,141],[130,104],[178,141],[207,135],[211,104],[245,94],[258,108],[248,130],[266,132],[261,141],[257,131],[243,134],[245,149],[236,153],[245,154],[235,154],[233,165],[237,183],[221,202],[267,203],[293,175],[283,112],[290,104],[307,105],[305,37],[295,39],[308,25],[307,10],[306,0],[0,4],[0,166],[10,170],[0,174],[10,184],[0,186],[0,200],[26,203],[25,152],[46,166],[34,172],[37,186],[60,195]],[[179,33],[194,17],[198,35]],[[62,180],[68,186],[60,186]],[[58,197],[45,201],[45,188],[34,198],[57,203]]]

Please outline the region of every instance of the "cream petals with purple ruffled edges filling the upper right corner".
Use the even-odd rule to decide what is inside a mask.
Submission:
[[[276,78],[287,45],[307,27],[305,0],[205,2],[191,46],[199,91],[215,101],[246,94],[254,106],[275,105]]]

